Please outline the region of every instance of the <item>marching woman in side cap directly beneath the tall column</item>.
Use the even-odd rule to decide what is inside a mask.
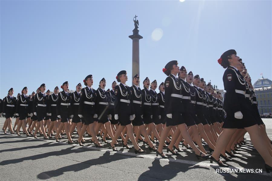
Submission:
[[[149,150],[156,151],[157,149],[150,141],[149,136],[146,132],[146,127],[143,123],[143,106],[142,106],[143,94],[142,94],[142,90],[139,88],[140,77],[138,74],[136,74],[133,77],[132,83],[133,83],[133,86],[131,86],[132,100],[133,100],[133,108],[135,111],[135,118],[132,121],[132,125],[134,127],[137,127],[137,126],[139,127],[136,133],[136,137],[139,137],[140,134],[143,134],[143,136],[145,137],[145,140],[143,140],[143,144],[146,144],[146,145],[148,144]],[[123,144],[127,145],[126,142],[124,142]]]

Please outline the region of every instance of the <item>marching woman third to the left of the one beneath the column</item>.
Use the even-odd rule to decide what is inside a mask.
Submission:
[[[109,134],[110,137],[114,137],[111,126],[110,126],[110,120],[108,118],[107,114],[107,108],[108,108],[108,102],[110,101],[108,94],[105,91],[106,87],[106,80],[105,78],[101,79],[99,82],[99,88],[97,89],[97,97],[95,102],[95,114],[94,118],[98,118],[98,123],[95,126],[95,133],[97,133],[102,126],[102,124],[105,124],[106,130],[104,132],[104,136]],[[111,116],[110,116],[111,118]],[[102,138],[102,141],[104,143],[108,143],[106,140]]]

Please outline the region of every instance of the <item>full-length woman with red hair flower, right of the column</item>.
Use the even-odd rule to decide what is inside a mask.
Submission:
[[[201,152],[193,143],[190,135],[187,132],[187,126],[182,118],[181,113],[184,112],[183,104],[182,104],[182,86],[180,85],[180,81],[177,78],[177,74],[179,73],[179,66],[176,60],[172,60],[165,65],[165,68],[162,71],[168,76],[165,79],[165,114],[166,114],[166,126],[162,130],[159,148],[156,151],[156,155],[160,155],[163,158],[168,158],[162,152],[162,148],[169,133],[170,129],[173,126],[177,126],[177,133],[179,135],[182,133],[182,137],[185,141],[193,148],[195,151],[196,157],[199,158],[208,158],[210,155],[206,155]],[[172,139],[173,139],[172,137]]]

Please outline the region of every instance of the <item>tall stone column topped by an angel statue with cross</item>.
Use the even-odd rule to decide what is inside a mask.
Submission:
[[[135,19],[134,19],[135,18]],[[132,76],[134,77],[137,74],[140,75],[140,53],[139,53],[139,40],[142,39],[143,37],[139,35],[139,21],[136,20],[137,16],[133,18],[134,21],[134,26],[135,28],[133,29],[133,35],[130,35],[129,38],[132,39]]]

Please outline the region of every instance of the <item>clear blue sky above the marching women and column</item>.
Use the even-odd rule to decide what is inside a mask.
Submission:
[[[131,85],[135,15],[141,80],[164,81],[162,68],[178,60],[223,89],[217,60],[228,49],[252,82],[261,73],[271,79],[271,1],[1,1],[1,99],[11,87],[16,95],[41,83],[53,91],[68,81],[75,89],[88,74],[94,88],[103,77],[111,88],[123,69]],[[157,41],[156,28],[163,32]]]

